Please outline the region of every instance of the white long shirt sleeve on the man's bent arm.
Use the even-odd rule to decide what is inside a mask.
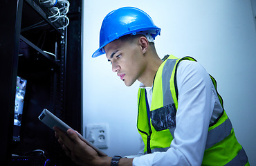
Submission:
[[[133,165],[201,165],[208,127],[217,102],[210,76],[198,62],[183,60],[176,73],[179,91],[176,129],[170,149],[134,158]]]

